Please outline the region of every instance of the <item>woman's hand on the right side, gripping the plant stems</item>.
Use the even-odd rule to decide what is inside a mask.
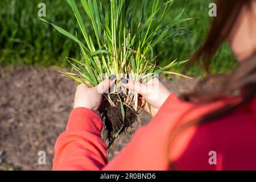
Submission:
[[[141,94],[142,99],[150,104],[150,109],[147,105],[144,106],[144,109],[153,116],[158,113],[164,101],[166,101],[171,94],[158,78],[154,78],[146,84],[122,78],[121,83],[125,88]]]

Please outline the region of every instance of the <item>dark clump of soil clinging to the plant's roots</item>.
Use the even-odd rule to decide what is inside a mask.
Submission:
[[[116,94],[113,94],[110,97],[112,98],[115,106],[109,104],[106,107],[104,121],[106,129],[106,139],[111,144],[113,142],[113,139],[115,138],[115,134],[117,134],[120,129],[121,132],[119,134],[122,134],[127,130],[128,127],[131,127],[133,123],[137,120],[137,115],[135,114],[135,111],[132,110],[130,107],[123,105],[123,108],[125,110],[125,119],[123,121],[121,105],[118,96]]]

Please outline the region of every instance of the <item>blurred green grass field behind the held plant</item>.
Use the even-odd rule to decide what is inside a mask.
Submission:
[[[57,32],[53,27],[39,20],[38,4],[46,4],[45,19],[71,32],[79,34],[79,27],[68,3],[64,0],[1,0],[0,1],[0,64],[68,67],[66,57],[78,57],[79,46]],[[107,3],[104,0],[103,3]],[[159,44],[156,53],[158,63],[166,64],[171,60],[186,60],[203,43],[209,28],[209,3],[213,0],[176,0],[165,21],[171,20],[185,6],[183,18],[195,18],[180,26],[190,30],[189,34]],[[141,3],[131,0],[135,6],[133,23],[137,26],[137,17],[141,14]],[[80,3],[78,3],[80,5]],[[82,15],[86,16],[84,11]],[[86,18],[85,18],[86,19]],[[88,21],[87,21],[88,22]],[[90,23],[86,24],[90,30]],[[227,43],[218,50],[211,65],[212,72],[229,72],[236,65],[232,51]],[[174,68],[180,72],[182,66]],[[200,69],[192,67],[191,75],[202,75]]]

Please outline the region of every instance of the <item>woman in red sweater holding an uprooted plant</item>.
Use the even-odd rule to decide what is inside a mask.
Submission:
[[[209,73],[212,56],[228,40],[237,69],[208,76],[179,98],[159,83],[152,99],[154,85],[123,79],[123,86],[150,102],[155,115],[110,163],[97,115],[104,90],[97,90],[115,80],[96,88],[79,85],[67,129],[56,141],[53,169],[256,170],[256,2],[216,3],[209,36],[187,66],[196,62]]]

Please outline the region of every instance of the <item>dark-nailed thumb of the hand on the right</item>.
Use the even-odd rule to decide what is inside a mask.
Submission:
[[[133,90],[134,92],[138,92],[142,96],[148,93],[147,85],[142,84],[141,82],[122,78],[121,83],[123,86],[125,86],[125,88]]]

